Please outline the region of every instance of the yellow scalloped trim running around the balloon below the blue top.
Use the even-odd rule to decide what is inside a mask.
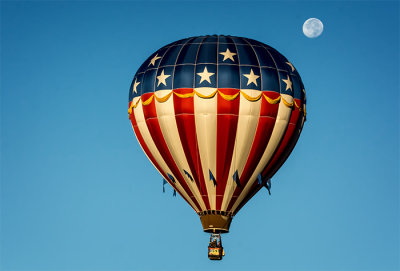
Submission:
[[[280,95],[280,96],[279,96],[278,98],[276,98],[276,99],[272,99],[272,98],[268,97],[268,96],[267,96],[266,94],[264,94],[264,93],[260,93],[260,95],[258,95],[257,97],[251,97],[251,96],[247,95],[247,94],[246,94],[245,92],[243,92],[243,91],[239,91],[238,93],[233,94],[233,95],[228,95],[228,94],[222,93],[222,92],[219,91],[218,89],[215,90],[213,93],[211,93],[211,94],[209,94],[209,95],[201,94],[200,92],[198,92],[198,91],[196,91],[196,90],[193,90],[192,93],[186,93],[186,94],[180,94],[180,93],[176,93],[175,91],[171,91],[170,93],[168,93],[167,95],[165,95],[164,97],[161,97],[161,98],[160,98],[160,97],[157,97],[156,95],[153,94],[153,95],[151,95],[150,98],[148,98],[147,100],[145,100],[145,101],[142,100],[142,104],[143,104],[143,105],[149,105],[149,104],[153,101],[153,98],[154,98],[154,97],[156,98],[156,101],[157,101],[157,102],[163,103],[163,102],[168,101],[168,99],[171,97],[172,94],[175,94],[175,95],[176,95],[177,97],[179,97],[179,98],[191,98],[191,97],[194,96],[194,94],[196,94],[196,95],[197,95],[198,97],[200,97],[200,98],[203,98],[203,99],[210,99],[210,98],[214,97],[215,94],[217,94],[217,92],[219,93],[219,95],[221,95],[221,97],[222,97],[223,99],[225,99],[225,100],[227,100],[227,101],[233,101],[234,99],[236,99],[236,98],[239,96],[239,94],[242,94],[242,96],[243,96],[246,100],[248,100],[248,101],[250,101],[250,102],[258,101],[262,96],[265,98],[265,100],[266,100],[269,104],[277,104],[277,103],[279,103],[279,102],[282,100],[282,102],[283,102],[284,105],[286,105],[287,107],[293,107],[293,106],[295,106],[297,109],[299,109],[300,112],[303,111],[304,116],[306,116],[306,105],[305,105],[305,104],[303,104],[303,108],[301,108],[301,107],[296,103],[295,100],[293,100],[293,102],[289,103],[288,101],[286,101],[286,100],[282,97],[282,95]],[[135,104],[131,103],[131,106],[130,106],[129,109],[128,109],[128,113],[129,113],[129,114],[132,114],[133,108],[136,108],[136,107],[138,106],[140,100],[141,100],[141,99],[138,99],[137,102],[136,102]]]

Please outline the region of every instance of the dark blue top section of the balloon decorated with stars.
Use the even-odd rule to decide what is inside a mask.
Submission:
[[[205,68],[212,75],[199,75]],[[163,71],[165,84],[159,77]],[[259,76],[257,85],[245,76],[251,71]],[[283,81],[288,76],[291,89]],[[277,50],[252,39],[212,35],[182,39],[152,54],[133,78],[129,100],[157,90],[193,87],[275,91],[305,99],[299,73]]]

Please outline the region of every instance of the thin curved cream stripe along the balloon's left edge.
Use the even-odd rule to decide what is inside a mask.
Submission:
[[[172,171],[169,169],[169,167],[165,163],[164,159],[162,158],[160,152],[158,151],[158,149],[156,147],[156,144],[153,141],[153,138],[150,135],[150,131],[147,128],[147,124],[146,124],[146,121],[145,121],[145,118],[144,118],[143,106],[142,106],[142,102],[141,101],[139,102],[137,107],[134,109],[134,114],[135,114],[136,123],[137,123],[138,129],[139,129],[139,132],[140,132],[140,134],[141,134],[146,146],[148,147],[150,153],[153,155],[154,159],[156,160],[156,162],[158,163],[160,168],[165,173],[171,174],[177,180],[176,176],[174,176],[174,174],[172,174]],[[171,180],[167,180],[167,181],[171,182]],[[198,208],[196,207],[196,205],[194,204],[192,199],[185,192],[185,190],[179,184],[178,181],[175,182],[175,186],[176,186],[176,189],[178,190],[178,192],[189,202],[189,204],[196,210],[196,212],[199,212],[200,210],[198,210]]]

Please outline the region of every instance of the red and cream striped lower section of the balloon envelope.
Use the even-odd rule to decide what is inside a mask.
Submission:
[[[212,97],[216,89],[195,91],[201,95],[190,95],[193,89],[177,89],[171,98],[152,99],[146,105],[143,101],[151,95],[161,98],[171,90],[134,98],[132,126],[150,161],[196,212],[235,214],[260,189],[258,175],[272,177],[286,160],[300,135],[304,115],[282,101],[273,104],[263,97],[252,101],[242,94],[234,98],[238,89],[219,89]],[[256,90],[241,92],[260,95]],[[281,95],[264,94],[271,99]],[[290,95],[281,97],[293,102]],[[300,100],[296,103],[302,108]]]

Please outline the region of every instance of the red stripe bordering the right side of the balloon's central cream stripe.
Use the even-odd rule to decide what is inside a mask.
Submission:
[[[219,89],[225,95],[234,95],[237,89]],[[238,125],[240,97],[232,101],[225,100],[218,94],[217,97],[217,172],[216,174],[216,209],[221,210],[227,182],[233,181],[229,176],[235,147],[236,129]]]

